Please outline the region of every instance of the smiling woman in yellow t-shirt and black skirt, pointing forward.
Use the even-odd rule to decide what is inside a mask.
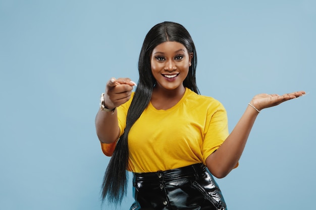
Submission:
[[[180,24],[163,22],[147,33],[139,56],[139,82],[112,78],[95,118],[102,151],[112,156],[102,197],[120,203],[126,170],[133,172],[131,209],[227,209],[214,181],[238,166],[261,109],[303,91],[253,97],[228,133],[223,105],[199,95],[196,51]]]

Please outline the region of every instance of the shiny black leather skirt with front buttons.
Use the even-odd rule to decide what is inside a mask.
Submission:
[[[222,192],[203,164],[153,173],[133,173],[130,210],[224,210]]]

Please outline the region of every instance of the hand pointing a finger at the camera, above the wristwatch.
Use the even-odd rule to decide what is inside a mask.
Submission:
[[[111,78],[106,87],[106,93],[104,93],[104,105],[108,109],[114,109],[131,98],[133,86],[135,82],[129,78]]]

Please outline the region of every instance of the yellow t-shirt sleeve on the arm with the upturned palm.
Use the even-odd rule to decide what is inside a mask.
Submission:
[[[220,104],[216,110],[210,110],[207,116],[202,146],[204,163],[206,158],[223,144],[228,135],[227,113]]]

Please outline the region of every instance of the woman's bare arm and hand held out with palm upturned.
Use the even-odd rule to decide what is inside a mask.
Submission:
[[[303,91],[285,94],[283,96],[276,94],[259,94],[251,100],[250,104],[258,110],[262,110],[297,98],[303,94],[305,94]],[[250,130],[257,115],[258,112],[251,106],[248,106],[221,147],[206,158],[206,166],[214,176],[223,178],[236,166],[245,148]]]

